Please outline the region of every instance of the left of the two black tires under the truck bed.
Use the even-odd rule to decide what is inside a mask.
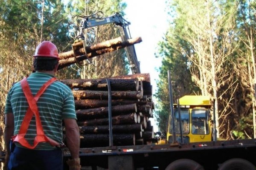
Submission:
[[[204,167],[191,159],[178,159],[170,163],[165,170],[204,170]]]

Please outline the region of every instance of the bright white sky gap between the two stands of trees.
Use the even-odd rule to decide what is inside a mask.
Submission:
[[[157,89],[156,68],[161,66],[161,59],[156,58],[157,43],[163,40],[168,28],[167,14],[165,12],[165,0],[123,0],[127,4],[125,20],[130,22],[129,30],[131,38],[141,37],[142,42],[134,45],[137,59],[140,62],[140,72],[149,73],[153,94]],[[153,102],[154,102],[154,97]],[[153,111],[154,116],[154,111]],[[154,125],[154,132],[158,130],[154,119],[150,119]]]

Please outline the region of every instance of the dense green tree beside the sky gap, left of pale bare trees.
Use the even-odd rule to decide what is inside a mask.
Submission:
[[[166,133],[168,116],[170,112],[168,70],[172,82],[173,102],[183,95],[196,93],[190,73],[191,63],[186,54],[191,53],[192,48],[189,42],[180,38],[183,34],[184,25],[182,20],[174,20],[175,27],[170,27],[165,34],[165,39],[158,43],[156,57],[162,57],[162,65],[158,69],[159,81],[157,81],[157,122],[159,129]]]

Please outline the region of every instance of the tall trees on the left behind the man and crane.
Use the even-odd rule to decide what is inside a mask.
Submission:
[[[66,4],[64,4],[64,2]],[[87,3],[87,4],[85,4]],[[89,11],[84,12],[87,5]],[[44,11],[42,11],[44,7]],[[93,14],[104,11],[106,16],[121,11],[126,7],[121,0],[1,0],[0,1],[0,111],[3,113],[6,94],[13,82],[17,82],[32,71],[32,56],[35,48],[42,40],[50,40],[60,52],[72,50],[75,39],[71,21],[72,14]],[[42,19],[43,17],[43,19]],[[42,29],[41,29],[42,28]],[[97,30],[93,43],[113,39],[118,30],[111,26]],[[108,36],[106,36],[108,35]],[[41,39],[42,37],[42,39]],[[97,61],[97,74],[92,77],[109,76],[128,73],[128,62],[124,51],[108,54],[110,59]],[[109,63],[108,63],[109,62]],[[113,63],[113,65],[112,65]],[[107,65],[108,71],[100,69]],[[90,65],[92,68],[93,66]],[[88,71],[93,71],[88,69]],[[108,74],[104,74],[104,71]],[[103,72],[103,74],[99,74]],[[58,72],[59,79],[80,78],[81,71],[76,65],[64,68]],[[3,133],[3,114],[0,116],[0,132]],[[3,136],[3,134],[0,134]],[[0,137],[0,147],[3,148],[3,138]]]

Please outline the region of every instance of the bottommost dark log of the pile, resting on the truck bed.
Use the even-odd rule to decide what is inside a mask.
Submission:
[[[135,145],[134,134],[113,134],[113,145]],[[80,147],[106,147],[109,146],[108,134],[80,135]]]

